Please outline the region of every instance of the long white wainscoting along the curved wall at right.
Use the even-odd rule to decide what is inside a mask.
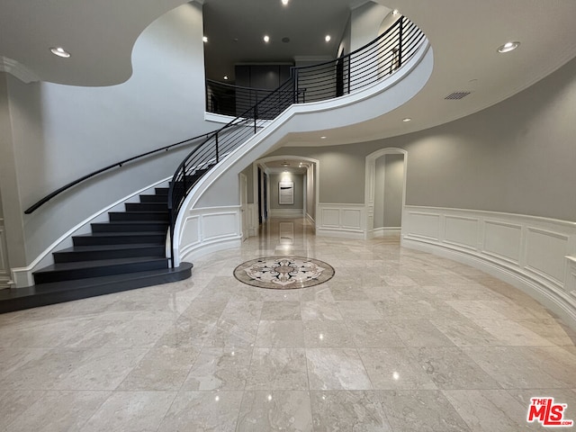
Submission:
[[[412,205],[402,220],[402,246],[499,277],[576,329],[576,222]]]

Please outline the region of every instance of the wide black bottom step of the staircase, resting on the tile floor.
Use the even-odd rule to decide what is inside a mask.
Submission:
[[[22,311],[61,302],[86,299],[97,295],[121,293],[145,286],[182,281],[192,275],[192,264],[146,272],[91,277],[73,281],[40,284],[28,288],[0,291],[0,313]]]

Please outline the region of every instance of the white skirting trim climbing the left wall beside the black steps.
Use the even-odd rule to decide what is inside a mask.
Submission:
[[[50,264],[52,264],[53,263],[52,253],[58,251],[59,249],[71,247],[72,236],[78,234],[81,229],[85,229],[85,232],[90,232],[89,230],[90,227],[88,227],[88,224],[93,223],[94,220],[96,220],[97,218],[104,216],[104,213],[112,211],[114,207],[117,207],[123,204],[124,202],[128,202],[130,199],[138,196],[140,193],[144,193],[149,189],[158,187],[159,184],[166,183],[171,179],[172,179],[171,176],[166,177],[165,179],[159,180],[157,183],[150,184],[146,187],[143,187],[142,189],[139,189],[134,193],[130,193],[130,195],[126,195],[120,200],[112,202],[112,204],[108,205],[107,207],[104,207],[102,210],[96,211],[94,214],[85,218],[85,220],[78,222],[74,227],[68,229],[67,232],[65,232],[59,238],[54,240],[54,242],[52,242],[52,244],[49,247],[44,249],[44,251],[42,251],[42,253],[40,253],[40,255],[36,257],[36,259],[34,259],[29,266],[14,267],[12,269],[12,278],[14,280],[15,287],[22,288],[24,286],[33,285],[34,278],[32,276],[32,273],[34,272],[34,270],[36,270],[36,268],[39,266],[49,266]]]

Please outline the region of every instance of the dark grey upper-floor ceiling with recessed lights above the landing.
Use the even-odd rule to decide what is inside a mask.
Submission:
[[[229,76],[234,81],[237,63],[335,58],[350,4],[351,0],[291,0],[285,5],[280,0],[205,0],[206,77],[221,81]]]

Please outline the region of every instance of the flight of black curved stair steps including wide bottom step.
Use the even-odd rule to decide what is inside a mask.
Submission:
[[[72,238],[73,247],[54,252],[54,264],[34,272],[34,286],[0,292],[0,312],[68,302],[107,293],[166,284],[190,277],[192,264],[168,266],[168,188],[139,195],[108,222]]]

